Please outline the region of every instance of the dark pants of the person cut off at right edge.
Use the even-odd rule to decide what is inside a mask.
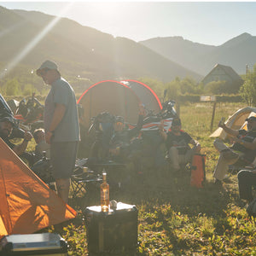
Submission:
[[[239,195],[241,199],[253,201],[253,186],[256,185],[256,173],[248,170],[241,170],[237,174]]]

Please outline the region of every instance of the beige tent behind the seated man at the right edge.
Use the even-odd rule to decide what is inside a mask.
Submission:
[[[234,130],[242,128],[247,129],[245,119],[249,116],[256,116],[256,108],[247,107],[237,110],[236,113],[233,113],[229,119],[225,121],[225,125]],[[210,137],[219,137],[223,140],[229,138],[228,134],[221,127],[213,131]]]

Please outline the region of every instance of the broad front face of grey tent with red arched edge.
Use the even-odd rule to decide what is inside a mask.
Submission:
[[[90,118],[108,111],[122,116],[125,122],[137,123],[140,99],[131,88],[118,81],[106,80],[90,86],[80,96],[78,104],[83,108],[80,124],[89,127]]]

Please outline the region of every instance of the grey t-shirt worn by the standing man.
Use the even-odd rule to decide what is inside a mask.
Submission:
[[[53,119],[55,103],[63,104],[66,113],[56,127],[53,142],[77,142],[80,140],[79,115],[73,88],[65,79],[57,79],[51,84],[49,94],[45,99],[44,130],[49,131]]]

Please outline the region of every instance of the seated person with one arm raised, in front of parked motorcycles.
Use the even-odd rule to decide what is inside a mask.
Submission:
[[[111,138],[109,145],[109,153],[115,160],[118,160],[117,156],[119,156],[119,158],[128,156],[132,148],[131,140],[132,138],[137,137],[139,131],[142,129],[144,116],[145,108],[143,104],[140,104],[137,125],[131,130],[128,130],[125,127],[125,120],[122,117],[116,117],[113,125],[113,137]]]

